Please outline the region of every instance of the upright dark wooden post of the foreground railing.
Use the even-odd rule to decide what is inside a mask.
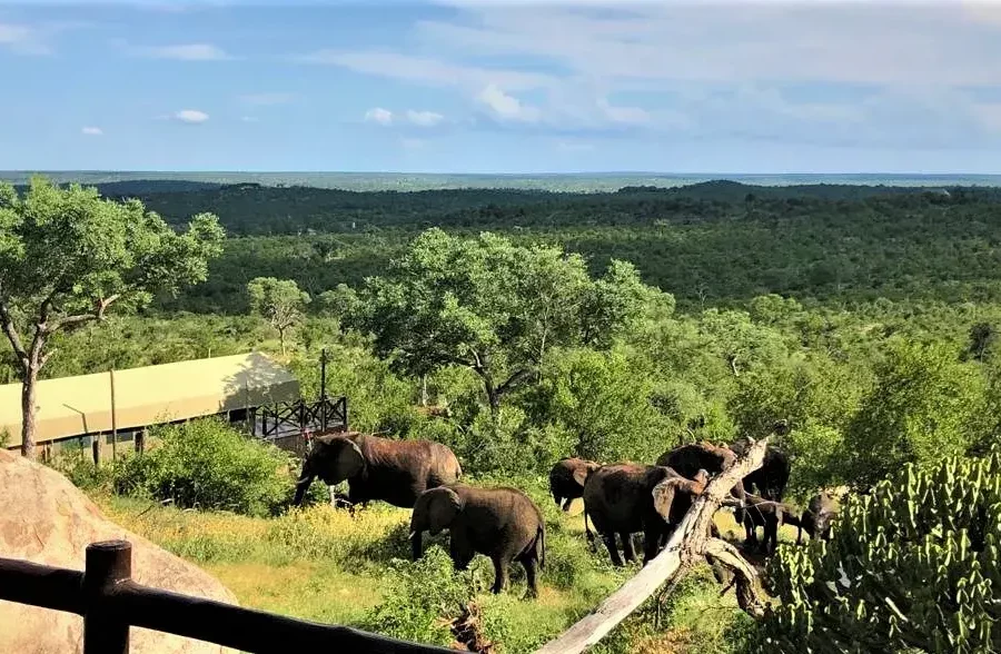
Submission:
[[[105,541],[87,546],[83,571],[83,654],[128,654],[129,623],[115,618],[108,595],[132,578],[132,545]]]

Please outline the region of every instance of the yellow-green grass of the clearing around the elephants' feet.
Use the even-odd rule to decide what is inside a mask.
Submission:
[[[470,573],[475,585],[469,594],[483,607],[485,631],[489,637],[496,637],[492,630],[500,636],[506,653],[534,651],[640,569],[638,564],[615,569],[604,547],[588,551],[579,501],[567,515],[551,499],[543,502],[542,488],[531,494],[547,522],[547,565],[539,578],[539,597],[524,600],[521,566],[512,567],[511,584],[499,596],[486,592],[493,581],[488,559],[477,557]],[[399,589],[389,569],[394,559],[409,558],[409,511],[373,503],[355,518],[328,506],[255,518],[180,511],[125,497],[99,495],[95,499],[118,524],[212,574],[244,606],[363,626],[381,602],[400,602],[392,597]],[[724,535],[727,528],[735,531],[732,518],[721,515],[718,519]],[[446,538],[444,534],[425,536],[426,549],[435,543],[444,545]],[[670,620],[662,611],[658,628],[652,608],[645,610],[609,635],[602,651],[696,652],[712,644],[725,652],[718,650],[721,643],[725,645],[721,640],[724,627],[739,613],[732,593],[718,597],[718,587],[702,577],[683,586],[672,595]],[[648,604],[653,606],[653,602]],[[664,648],[665,644],[670,647]]]

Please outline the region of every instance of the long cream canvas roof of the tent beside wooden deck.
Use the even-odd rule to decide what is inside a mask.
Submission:
[[[250,353],[115,370],[118,429],[169,423],[299,398],[299,383],[274,359]],[[111,430],[111,375],[38,383],[37,442]],[[0,385],[0,433],[21,444],[21,385]]]

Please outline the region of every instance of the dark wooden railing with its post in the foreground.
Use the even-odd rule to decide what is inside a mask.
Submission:
[[[132,546],[127,541],[93,543],[87,547],[86,558],[85,572],[0,558],[0,600],[83,616],[83,654],[127,654],[129,626],[254,654],[454,654],[454,650],[445,647],[142,586],[131,578]]]

